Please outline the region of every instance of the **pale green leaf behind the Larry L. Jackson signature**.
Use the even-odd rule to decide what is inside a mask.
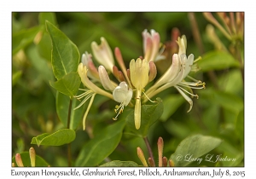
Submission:
[[[202,155],[218,147],[221,140],[212,136],[189,136],[180,142],[171,159],[175,166],[186,166]],[[189,159],[191,157],[191,159]]]

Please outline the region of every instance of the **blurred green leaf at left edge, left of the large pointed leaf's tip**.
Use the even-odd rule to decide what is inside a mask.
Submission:
[[[42,26],[34,26],[30,29],[24,29],[20,32],[15,32],[12,36],[12,54],[15,55],[20,49],[32,43]]]

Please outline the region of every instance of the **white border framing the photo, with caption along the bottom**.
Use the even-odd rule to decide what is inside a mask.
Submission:
[[[251,3],[252,2],[252,3]],[[93,0],[93,1],[52,1],[44,0],[41,2],[25,0],[25,1],[1,1],[1,154],[0,154],[0,176],[10,176],[10,151],[11,151],[11,12],[13,11],[245,11],[245,167],[239,168],[221,168],[221,170],[246,170],[247,178],[254,176],[255,161],[255,136],[253,112],[255,106],[253,104],[255,91],[254,74],[255,66],[254,54],[255,45],[255,12],[253,1],[238,0],[215,0],[211,1],[120,1],[120,0]],[[254,33],[254,34],[253,34]],[[68,170],[68,168],[51,168],[50,170]],[[121,168],[122,170],[130,170]],[[176,170],[196,170],[197,168],[176,168]],[[15,169],[16,170],[16,169]],[[22,169],[17,169],[22,170]],[[37,170],[40,170],[39,168]],[[79,168],[82,170],[82,168]],[[102,169],[103,170],[103,169]],[[218,168],[209,168],[209,170],[218,170]],[[252,177],[251,177],[252,176]],[[3,178],[7,178],[3,177]],[[70,176],[69,176],[70,177]],[[84,176],[83,176],[84,177]],[[119,176],[105,176],[104,178],[118,178]],[[131,176],[123,176],[131,178]],[[169,176],[172,177],[172,176]],[[190,178],[198,178],[193,176]],[[22,177],[19,177],[22,178]],[[32,178],[32,177],[31,177]],[[37,178],[45,178],[38,176]],[[46,178],[56,178],[50,176]],[[59,177],[64,178],[64,177]],[[82,178],[82,177],[80,177]],[[86,177],[91,178],[91,177]],[[181,177],[182,178],[182,177]],[[201,177],[202,178],[202,177]],[[207,178],[207,177],[204,177]],[[224,176],[223,178],[230,178]]]

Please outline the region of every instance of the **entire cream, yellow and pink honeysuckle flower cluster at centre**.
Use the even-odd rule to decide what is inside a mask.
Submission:
[[[205,84],[188,76],[195,61],[194,55],[191,54],[188,57],[186,55],[187,40],[185,36],[177,39],[179,50],[177,54],[172,56],[172,65],[169,66],[156,83],[148,90],[145,90],[145,87],[149,82],[154,80],[157,74],[157,68],[154,62],[165,59],[165,56],[162,55],[164,47],[160,44],[160,34],[158,32],[154,30],[151,30],[151,33],[147,30],[143,31],[143,57],[137,58],[137,60],[132,59],[128,69],[125,66],[119,48],[115,48],[114,56],[119,65],[119,70],[115,65],[113,51],[110,49],[105,38],[101,38],[101,44],[99,45],[96,42],[91,43],[93,56],[101,65],[96,68],[92,61],[92,55],[88,52],[84,53],[82,62],[79,64],[79,76],[86,89],[80,89],[84,90],[84,93],[75,96],[79,100],[84,98],[78,107],[81,107],[85,101],[90,99],[89,106],[84,113],[84,130],[85,119],[97,94],[105,95],[119,102],[119,105],[114,109],[116,113],[116,116],[113,118],[114,120],[118,118],[126,106],[129,104],[132,107],[134,106],[134,120],[137,130],[141,126],[142,104],[151,101],[150,98],[167,88],[176,88],[183,95],[184,99],[189,102],[189,111],[191,110],[193,101],[189,95],[198,97],[198,95],[193,94],[191,89],[203,89],[205,88]],[[108,76],[109,73],[112,73],[116,79],[110,79]],[[184,80],[186,77],[192,79],[194,82],[186,82]],[[97,86],[96,82],[102,84],[102,88]],[[184,88],[188,88],[190,92]],[[132,97],[135,99],[134,102],[131,101]]]

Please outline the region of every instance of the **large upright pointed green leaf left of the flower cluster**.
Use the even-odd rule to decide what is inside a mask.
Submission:
[[[52,42],[51,63],[55,78],[61,79],[70,72],[77,72],[80,60],[77,46],[48,20],[46,30]]]

